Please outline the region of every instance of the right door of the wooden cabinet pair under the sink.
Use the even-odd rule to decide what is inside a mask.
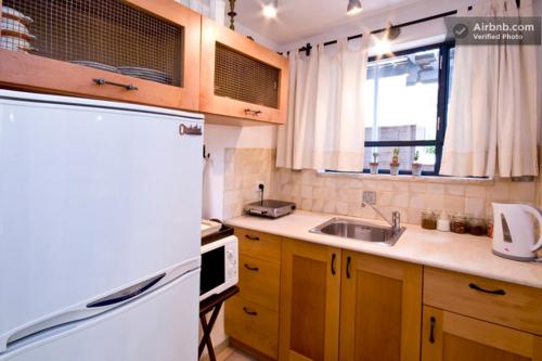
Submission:
[[[422,266],[343,252],[340,361],[417,361]]]

